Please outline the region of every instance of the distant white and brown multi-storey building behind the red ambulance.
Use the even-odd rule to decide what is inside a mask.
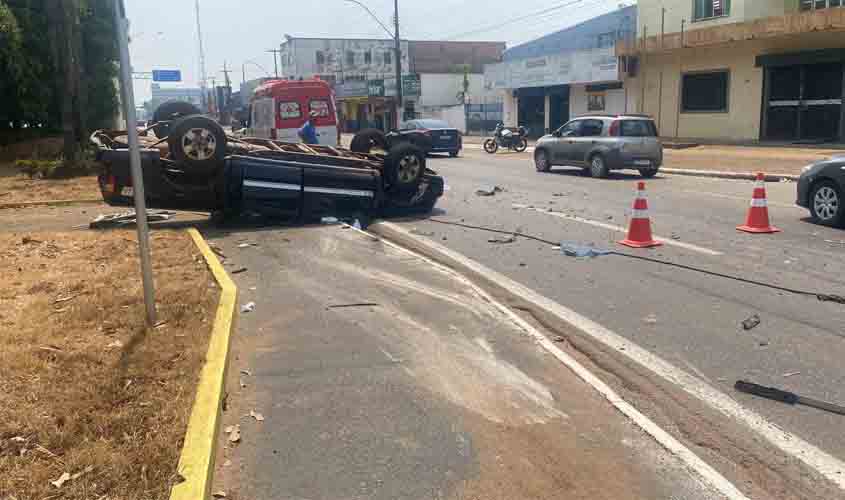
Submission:
[[[397,116],[394,40],[287,37],[281,46],[284,78],[313,78],[334,86],[346,132],[398,121],[440,116],[485,93],[483,68],[501,60],[504,42],[415,42],[403,40],[404,109]],[[469,85],[465,89],[464,82]]]

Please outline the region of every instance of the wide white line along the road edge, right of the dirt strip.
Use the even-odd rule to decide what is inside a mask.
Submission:
[[[724,415],[731,417],[744,424],[752,431],[763,436],[771,444],[784,453],[792,455],[801,460],[830,482],[845,491],[845,462],[808,443],[800,437],[781,429],[775,424],[766,420],[759,413],[749,410],[740,405],[727,394],[707,384],[689,373],[677,368],[663,358],[643,349],[638,344],[631,342],[625,337],[605,328],[595,321],[578,314],[577,312],[564,307],[563,305],[535,292],[534,290],[518,283],[488,267],[465,257],[464,255],[446,248],[439,243],[414,236],[405,229],[390,222],[379,222],[372,227],[384,225],[390,230],[404,234],[407,238],[414,239],[427,245],[429,248],[459,262],[473,272],[483,275],[485,278],[497,283],[498,286],[508,290],[522,300],[544,309],[557,316],[562,321],[581,330],[604,345],[619,351],[620,354],[646,367],[668,382],[682,388],[687,393],[703,401],[712,408]]]

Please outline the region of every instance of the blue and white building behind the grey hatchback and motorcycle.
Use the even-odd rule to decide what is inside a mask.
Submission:
[[[636,18],[636,7],[625,7],[505,51],[484,72],[505,124],[538,136],[579,114],[624,112],[630,95],[615,46],[634,38]]]

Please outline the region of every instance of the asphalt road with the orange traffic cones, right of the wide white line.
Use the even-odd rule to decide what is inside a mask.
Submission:
[[[652,224],[668,243],[633,250],[615,242],[633,202],[636,173],[596,180],[578,169],[534,171],[527,154],[433,158],[447,181],[433,217],[554,242],[592,244],[783,287],[845,295],[845,231],[814,225],[794,206],[795,184],[769,184],[773,222],[783,230],[750,235],[745,220],[753,183],[660,175],[647,182]],[[746,170],[760,170],[749,165]],[[764,170],[764,168],[762,168]],[[500,186],[495,196],[479,188]],[[564,256],[549,245],[427,220],[400,222],[616,331],[696,374],[782,428],[842,459],[841,415],[737,394],[737,379],[845,404],[845,306],[813,297],[616,255]],[[746,331],[741,322],[757,314]]]

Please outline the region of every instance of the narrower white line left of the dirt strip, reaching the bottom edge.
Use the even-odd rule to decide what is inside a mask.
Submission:
[[[402,229],[402,228],[400,228],[400,227],[398,227],[394,224],[391,224],[389,222],[379,222],[379,223],[374,224],[373,226],[370,226],[370,227],[374,227],[374,226],[378,226],[378,225],[388,226],[391,229],[394,229],[396,231],[404,233],[406,236],[413,237],[413,236],[410,235],[410,233],[408,233],[404,229]],[[418,238],[418,240],[422,240],[422,239]],[[620,413],[622,413],[623,415],[628,417],[640,429],[645,431],[648,435],[650,435],[652,438],[654,438],[654,440],[657,441],[661,446],[666,448],[666,450],[669,451],[670,454],[674,455],[681,462],[683,462],[683,464],[690,471],[697,474],[698,477],[700,477],[705,483],[707,483],[711,487],[715,488],[719,493],[724,495],[729,500],[749,500],[749,498],[747,496],[745,496],[736,486],[734,486],[733,483],[731,483],[724,476],[722,476],[716,469],[714,469],[707,462],[705,462],[704,460],[699,458],[698,455],[696,455],[692,450],[690,450],[683,443],[681,443],[680,441],[675,439],[671,434],[669,434],[668,432],[663,430],[660,426],[658,426],[656,423],[654,423],[650,418],[648,418],[647,416],[640,413],[639,410],[637,410],[636,408],[634,408],[633,405],[631,405],[630,403],[628,403],[627,401],[622,399],[622,397],[619,396],[619,394],[617,394],[616,391],[614,391],[610,386],[605,384],[597,376],[593,375],[593,373],[591,373],[589,370],[587,370],[575,358],[573,358],[569,354],[562,351],[554,342],[552,342],[542,332],[540,332],[539,330],[534,328],[530,323],[528,323],[527,321],[522,319],[522,317],[520,317],[518,314],[513,312],[513,310],[511,310],[509,307],[502,304],[498,300],[494,299],[486,291],[484,291],[481,287],[479,287],[474,282],[472,282],[472,280],[465,277],[463,274],[460,274],[459,272],[455,271],[454,269],[450,269],[450,268],[448,268],[448,267],[446,267],[446,266],[444,266],[444,265],[442,265],[438,262],[435,262],[435,261],[429,259],[428,257],[417,254],[416,252],[413,252],[412,250],[409,250],[405,247],[399,246],[399,245],[397,245],[397,244],[395,244],[391,241],[385,240],[385,239],[382,239],[382,241],[385,244],[387,244],[388,246],[391,246],[393,248],[396,248],[397,250],[406,252],[408,254],[414,255],[417,258],[429,263],[430,265],[432,265],[432,266],[434,266],[434,267],[436,267],[436,268],[438,268],[438,269],[440,269],[440,270],[442,270],[446,273],[451,274],[456,279],[458,279],[459,281],[463,282],[465,285],[472,288],[476,293],[478,293],[481,297],[483,297],[485,300],[487,300],[490,304],[492,304],[497,309],[502,311],[502,313],[507,315],[511,319],[511,321],[513,321],[516,325],[518,325],[520,328],[522,328],[528,335],[533,337],[534,340],[537,341],[538,344],[540,344],[546,351],[548,351],[551,355],[553,355],[555,358],[557,358],[558,361],[560,361],[561,363],[566,365],[570,370],[572,370],[575,373],[575,375],[578,376],[578,378],[580,378],[581,380],[586,382],[590,387],[592,387],[599,394],[604,396],[604,398],[611,405],[613,405],[617,410],[619,410]],[[445,252],[452,253],[450,250],[446,249],[445,247],[437,245],[433,242],[428,242],[426,240],[423,240],[423,241],[425,242],[424,244],[431,245],[433,247],[436,246],[437,247],[436,249],[438,251],[445,251]],[[456,258],[455,255],[460,255],[460,254],[449,255],[449,257]],[[474,266],[477,266],[478,268],[483,268],[483,266],[481,266],[481,264],[477,264],[477,263],[469,260],[468,258],[463,257],[462,255],[460,257],[461,257],[461,262],[472,263]],[[471,269],[473,268],[473,266],[468,266],[468,267],[470,267]],[[473,269],[473,270],[475,270],[475,269]],[[492,274],[485,274],[486,276],[492,276],[493,274],[495,274],[492,270],[485,270],[484,272],[485,273],[488,273],[488,272],[492,273]],[[504,276],[502,276],[502,278],[504,278]],[[508,279],[508,278],[504,278],[504,279]]]

